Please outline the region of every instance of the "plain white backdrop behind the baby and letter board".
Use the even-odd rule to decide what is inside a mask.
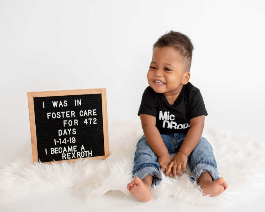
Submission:
[[[138,120],[152,46],[194,45],[206,125],[264,142],[263,1],[0,1],[0,165],[30,140],[27,92],[107,89],[108,122]]]

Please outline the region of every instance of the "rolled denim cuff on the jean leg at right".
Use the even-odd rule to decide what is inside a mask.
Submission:
[[[219,178],[217,168],[215,168],[212,165],[205,164],[205,163],[199,163],[193,168],[191,172],[191,177],[190,177],[191,182],[198,180],[199,177],[201,176],[201,173],[203,172],[209,172],[213,180],[216,180]],[[197,184],[198,184],[198,181],[197,181]]]

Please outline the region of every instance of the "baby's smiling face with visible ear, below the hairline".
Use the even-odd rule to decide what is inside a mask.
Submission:
[[[182,66],[182,57],[173,47],[155,47],[147,73],[148,84],[157,93],[175,95],[187,84],[187,74]]]

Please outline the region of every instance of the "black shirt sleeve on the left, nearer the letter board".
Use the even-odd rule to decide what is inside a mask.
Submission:
[[[155,100],[155,95],[150,88],[148,89],[148,87],[143,92],[138,116],[140,116],[140,114],[152,115],[154,117],[157,115],[157,103]]]

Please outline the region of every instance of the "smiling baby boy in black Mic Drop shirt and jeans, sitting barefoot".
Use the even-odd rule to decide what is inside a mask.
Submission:
[[[186,173],[187,162],[189,179],[200,184],[203,194],[217,196],[228,187],[218,177],[210,143],[201,137],[208,113],[200,90],[189,82],[192,50],[191,40],[174,31],[153,45],[149,86],[138,111],[144,135],[136,145],[134,180],[127,185],[140,201],[151,199],[151,188],[162,180],[160,169],[165,176],[181,176],[181,168]]]

